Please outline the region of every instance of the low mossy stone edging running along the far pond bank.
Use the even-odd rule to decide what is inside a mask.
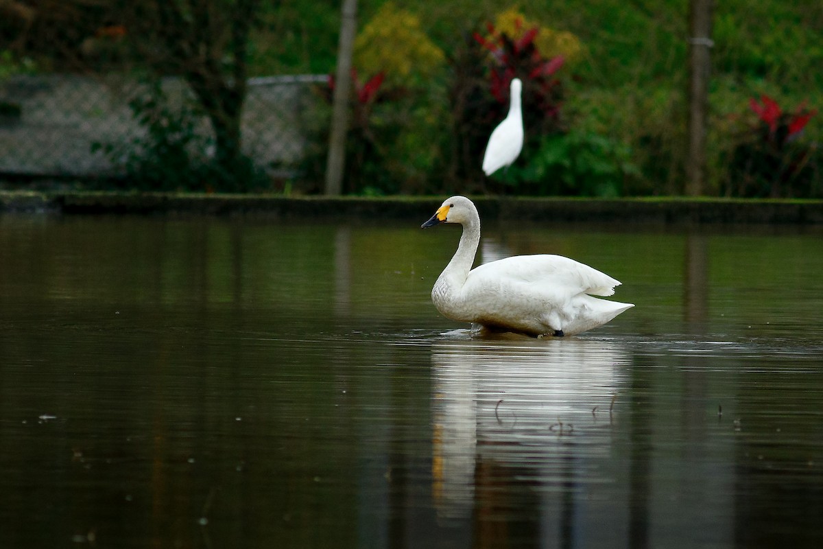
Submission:
[[[823,225],[823,200],[477,197],[486,220]],[[0,191],[0,213],[428,219],[444,197],[283,197],[197,193]]]

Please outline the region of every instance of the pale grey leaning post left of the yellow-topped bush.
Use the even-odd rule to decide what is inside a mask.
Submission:
[[[343,0],[340,41],[337,44],[337,76],[334,81],[332,130],[328,140],[326,194],[342,193],[346,168],[346,132],[349,127],[349,90],[351,88],[351,51],[357,29],[357,0]]]

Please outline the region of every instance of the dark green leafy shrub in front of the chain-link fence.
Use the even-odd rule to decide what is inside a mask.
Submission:
[[[129,101],[133,116],[145,134],[126,143],[100,143],[92,151],[103,151],[114,165],[122,166],[123,183],[142,190],[237,191],[237,182],[251,185],[261,177],[248,158],[237,162],[236,171],[226,173],[207,150],[213,140],[198,132],[202,111],[184,98],[174,105],[156,82]]]

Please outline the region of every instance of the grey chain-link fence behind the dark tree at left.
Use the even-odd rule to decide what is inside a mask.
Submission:
[[[325,75],[249,80],[241,133],[243,152],[255,165],[272,173],[276,166],[300,161],[306,138],[301,113],[312,105],[309,87],[326,80]],[[179,78],[165,79],[162,87],[172,101],[188,93]],[[0,105],[7,105],[0,110],[0,175],[83,179],[119,174],[118,159],[100,146],[133,142],[145,134],[129,107],[144,88],[127,77],[21,75],[0,82]],[[197,132],[211,132],[205,116]]]

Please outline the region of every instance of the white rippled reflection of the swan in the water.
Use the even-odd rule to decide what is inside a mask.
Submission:
[[[513,485],[523,479],[532,493],[527,497],[537,497],[534,486],[562,489],[581,468],[597,477],[588,462],[608,457],[617,419],[613,399],[630,362],[620,345],[514,336],[436,343],[433,490],[439,516],[505,512],[493,500],[517,491]],[[522,494],[515,499],[522,502]]]

